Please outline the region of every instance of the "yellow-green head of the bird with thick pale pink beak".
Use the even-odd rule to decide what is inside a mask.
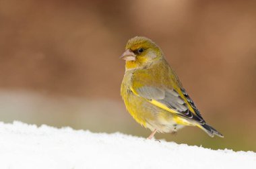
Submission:
[[[131,38],[120,58],[126,60],[126,68],[139,68],[162,58],[160,48],[150,39],[141,36]]]

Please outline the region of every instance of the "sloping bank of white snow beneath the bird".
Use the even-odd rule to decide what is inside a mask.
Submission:
[[[256,153],[14,121],[0,123],[0,168],[256,168]]]

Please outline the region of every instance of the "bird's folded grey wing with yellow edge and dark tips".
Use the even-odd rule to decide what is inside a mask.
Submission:
[[[195,104],[185,89],[175,90],[158,87],[131,87],[131,91],[135,95],[143,97],[153,105],[169,111],[170,113],[175,113],[186,119],[197,121],[197,123],[200,124],[205,123],[199,110],[195,107]]]

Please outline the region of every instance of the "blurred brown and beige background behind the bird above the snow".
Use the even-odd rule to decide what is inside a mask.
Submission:
[[[147,137],[125,110],[119,60],[161,46],[205,120],[158,139],[256,151],[256,1],[0,0],[0,120]]]

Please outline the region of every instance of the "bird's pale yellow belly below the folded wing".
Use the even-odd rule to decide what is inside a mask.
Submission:
[[[152,103],[146,101],[146,99],[133,94],[127,95],[127,97],[123,99],[127,111],[129,111],[135,121],[152,131],[157,129],[159,132],[170,133],[182,127],[182,125],[178,125],[174,121],[174,116],[176,115],[156,105],[152,105]]]

